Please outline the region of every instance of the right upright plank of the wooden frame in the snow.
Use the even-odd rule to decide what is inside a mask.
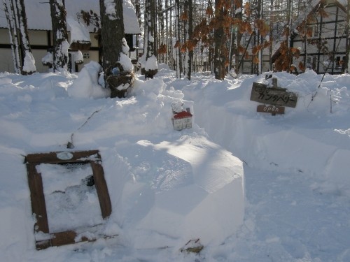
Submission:
[[[109,198],[109,189],[104,179],[104,169],[97,161],[91,161],[92,173],[94,175],[94,184],[99,197],[99,205],[101,207],[102,217],[109,217],[112,212],[111,199]]]

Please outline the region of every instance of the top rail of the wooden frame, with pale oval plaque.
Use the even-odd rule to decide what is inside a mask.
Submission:
[[[63,152],[49,152],[49,153],[38,153],[38,154],[27,154],[26,161],[27,163],[71,163],[71,162],[88,162],[91,160],[91,157],[96,155],[97,160],[101,159],[99,157],[98,150],[88,150],[88,151],[63,151]],[[63,157],[69,159],[59,159],[60,154],[63,154]]]

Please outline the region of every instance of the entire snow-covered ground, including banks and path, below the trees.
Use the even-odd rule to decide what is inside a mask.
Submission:
[[[96,70],[0,73],[0,261],[350,261],[350,75],[318,88],[313,71],[274,73],[298,101],[272,116],[250,101],[265,74],[188,81],[160,66],[106,99]],[[173,129],[179,101],[192,129]],[[118,236],[36,251],[25,156],[69,150],[101,153],[112,213],[98,233]],[[80,168],[38,167],[54,229],[101,223]],[[200,255],[179,251],[197,238]]]

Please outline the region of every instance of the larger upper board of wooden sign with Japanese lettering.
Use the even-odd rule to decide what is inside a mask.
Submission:
[[[297,94],[288,92],[286,88],[267,87],[265,84],[253,82],[251,101],[295,108]]]

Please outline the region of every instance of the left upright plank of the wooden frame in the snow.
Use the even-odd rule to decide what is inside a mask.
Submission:
[[[34,230],[49,233],[48,215],[46,213],[45,197],[43,194],[43,180],[36,171],[35,163],[27,163],[28,184],[30,189],[31,211],[35,214]]]

